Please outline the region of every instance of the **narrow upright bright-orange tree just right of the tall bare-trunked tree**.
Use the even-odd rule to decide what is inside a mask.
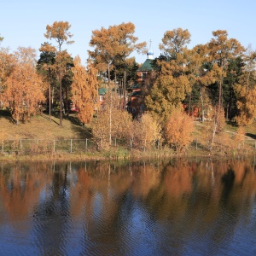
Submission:
[[[74,59],[73,104],[79,108],[78,118],[82,123],[90,123],[96,109],[97,79],[96,68],[90,65],[87,69],[81,64],[79,56]]]

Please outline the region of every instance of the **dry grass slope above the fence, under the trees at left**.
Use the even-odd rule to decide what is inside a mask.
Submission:
[[[0,136],[4,139],[90,137],[88,127],[79,125],[74,116],[71,116],[69,120],[63,119],[62,127],[59,125],[59,122],[58,118],[52,117],[49,120],[49,116],[43,114],[32,117],[29,123],[15,125],[8,114],[0,111]]]

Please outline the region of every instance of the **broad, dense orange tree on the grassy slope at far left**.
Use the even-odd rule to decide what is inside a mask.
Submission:
[[[29,120],[44,101],[45,85],[36,72],[35,56],[35,49],[20,47],[15,52],[15,67],[6,80],[4,102],[17,124]]]

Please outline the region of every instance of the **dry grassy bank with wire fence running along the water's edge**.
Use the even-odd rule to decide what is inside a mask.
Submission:
[[[90,137],[90,126],[82,126],[74,115],[63,119],[48,115],[32,117],[30,123],[15,125],[4,112],[0,115],[0,161],[15,160],[150,160],[176,157],[236,157],[256,153],[255,125],[245,127],[246,136],[240,144],[235,142],[237,127],[226,124],[216,134],[214,147],[209,150],[204,127],[195,122],[194,140],[183,154],[177,154],[166,145],[154,148],[131,148],[119,145],[98,151]],[[21,147],[22,146],[22,147]]]

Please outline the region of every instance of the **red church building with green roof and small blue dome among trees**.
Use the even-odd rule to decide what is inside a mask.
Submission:
[[[144,61],[142,67],[139,67],[137,70],[137,84],[131,86],[130,112],[133,116],[137,116],[145,110],[143,102],[143,85],[148,78],[148,74],[154,70],[152,66],[154,53],[151,49],[148,50],[147,56],[147,60]]]

